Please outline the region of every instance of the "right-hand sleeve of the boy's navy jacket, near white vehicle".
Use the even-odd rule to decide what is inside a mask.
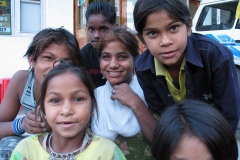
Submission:
[[[215,106],[228,120],[233,131],[236,132],[239,120],[240,94],[236,66],[233,55],[227,47],[218,52],[225,52],[223,60],[218,57],[213,60],[213,94]],[[212,53],[216,54],[216,52]]]

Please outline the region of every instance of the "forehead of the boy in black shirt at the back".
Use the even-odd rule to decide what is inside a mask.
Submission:
[[[89,16],[87,27],[112,26],[102,14],[93,14]]]

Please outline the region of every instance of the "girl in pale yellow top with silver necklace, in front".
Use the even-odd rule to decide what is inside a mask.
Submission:
[[[11,160],[125,159],[113,142],[88,131],[96,103],[85,69],[60,61],[45,77],[40,93],[40,115],[52,132],[20,141]]]

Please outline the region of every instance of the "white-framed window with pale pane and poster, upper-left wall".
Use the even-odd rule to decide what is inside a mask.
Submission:
[[[32,35],[41,28],[40,0],[0,0],[0,35]]]

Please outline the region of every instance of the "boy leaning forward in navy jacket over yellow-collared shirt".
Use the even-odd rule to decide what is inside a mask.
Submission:
[[[147,5],[146,5],[147,3]],[[236,132],[239,88],[231,51],[191,33],[191,17],[182,0],[138,0],[134,24],[147,46],[135,63],[149,108],[161,113],[184,99],[214,105]]]

